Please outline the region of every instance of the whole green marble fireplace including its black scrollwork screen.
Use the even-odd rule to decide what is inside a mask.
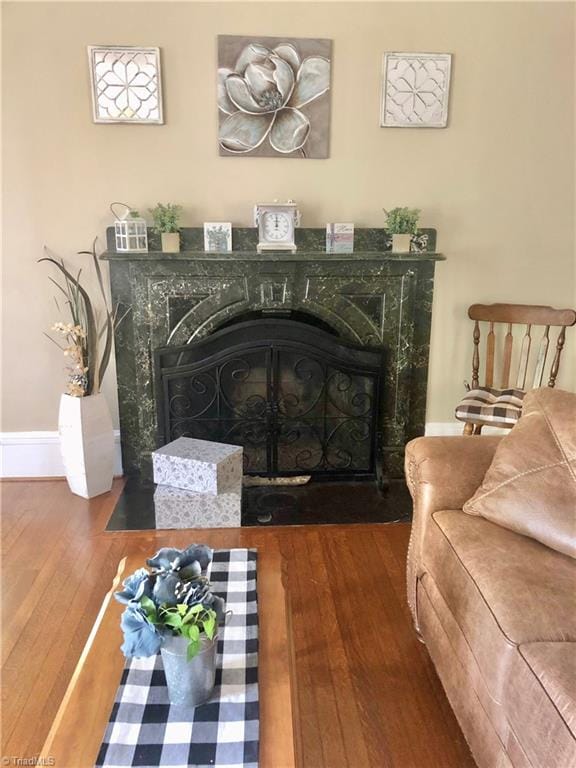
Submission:
[[[356,229],[354,253],[326,253],[324,229],[296,235],[294,254],[257,253],[253,228],[231,253],[190,228],[180,253],[125,254],[109,229],[126,474],[150,478],[151,451],[194,434],[243,444],[253,474],[402,477],[424,431],[435,231],[407,254],[382,229]]]

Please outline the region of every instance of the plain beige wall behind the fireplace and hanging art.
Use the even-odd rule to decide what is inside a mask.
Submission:
[[[572,4],[5,3],[3,31],[4,430],[56,426],[63,363],[42,336],[57,313],[36,259],[43,243],[71,257],[103,237],[111,200],[179,201],[188,225],[246,226],[266,198],[298,200],[305,226],[422,208],[448,257],[428,421],[452,420],[469,376],[468,304],[575,303]],[[218,157],[218,33],[334,40],[330,159]],[[92,123],[91,43],[161,46],[166,125]],[[378,127],[387,50],[454,54],[448,129]],[[570,389],[575,348],[576,331]],[[113,371],[106,392],[115,409]]]

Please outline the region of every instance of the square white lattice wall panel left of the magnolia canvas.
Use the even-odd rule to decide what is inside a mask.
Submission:
[[[160,49],[89,45],[95,123],[162,124]]]

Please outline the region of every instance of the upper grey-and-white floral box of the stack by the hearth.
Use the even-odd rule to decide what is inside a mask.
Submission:
[[[154,482],[216,495],[242,484],[242,448],[179,437],[152,452]]]

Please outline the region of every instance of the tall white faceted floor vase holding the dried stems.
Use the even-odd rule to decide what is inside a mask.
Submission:
[[[62,395],[58,431],[72,493],[91,499],[109,491],[114,476],[114,430],[104,395]]]

